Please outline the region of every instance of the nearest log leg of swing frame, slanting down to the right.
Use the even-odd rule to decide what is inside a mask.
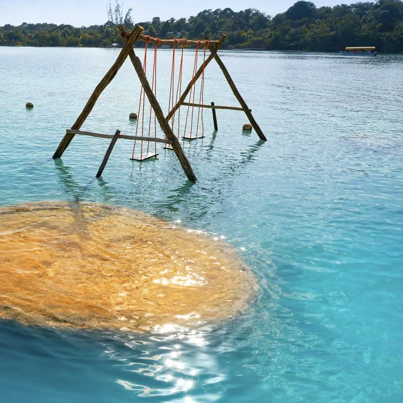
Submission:
[[[124,37],[124,27],[119,27],[120,33],[123,37],[123,40],[126,41]],[[196,175],[194,175],[194,172],[192,170],[192,167],[190,166],[189,161],[187,160],[185,153],[182,150],[182,147],[180,147],[178,139],[175,137],[171,126],[168,123],[168,120],[165,118],[164,113],[162,112],[161,106],[157,101],[157,98],[155,97],[153,90],[150,87],[150,84],[147,80],[147,77],[144,73],[142,63],[139,59],[139,57],[136,56],[135,51],[133,48],[130,48],[129,50],[129,58],[133,64],[133,67],[136,70],[137,75],[139,76],[139,80],[143,86],[144,92],[147,95],[147,98],[150,102],[150,105],[152,106],[154,113],[157,117],[158,123],[164,130],[166,138],[172,142],[171,146],[173,150],[175,151],[176,156],[178,157],[178,160],[180,164],[182,165],[183,171],[185,172],[187,178],[191,182],[196,182]]]

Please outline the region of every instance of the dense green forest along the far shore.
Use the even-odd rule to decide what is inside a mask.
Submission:
[[[3,46],[121,46],[117,25],[133,26],[131,9],[115,0],[103,25],[7,24],[0,27]],[[376,46],[379,52],[403,52],[403,3],[400,0],[359,2],[317,8],[299,1],[271,17],[255,9],[234,12],[204,10],[189,18],[138,22],[145,33],[159,38],[218,39],[227,35],[227,48],[337,51],[346,46]]]

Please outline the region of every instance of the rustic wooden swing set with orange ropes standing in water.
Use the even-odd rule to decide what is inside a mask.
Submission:
[[[71,141],[73,140],[75,135],[84,135],[84,136],[91,136],[91,137],[98,137],[98,138],[104,138],[104,139],[111,139],[111,142],[109,144],[109,147],[106,151],[106,154],[104,156],[104,159],[99,167],[99,170],[96,174],[96,177],[99,178],[102,175],[102,172],[105,168],[105,165],[108,161],[108,158],[113,150],[113,147],[118,139],[127,139],[127,140],[134,140],[135,145],[133,146],[133,153],[132,153],[132,158],[133,160],[138,160],[138,161],[143,161],[148,158],[156,157],[158,154],[156,152],[156,144],[157,143],[164,143],[165,148],[167,149],[172,149],[182,168],[183,171],[185,172],[187,178],[191,182],[196,182],[196,176],[194,175],[194,172],[190,166],[189,161],[187,160],[182,147],[180,146],[179,143],[179,118],[178,118],[178,135],[175,136],[173,132],[173,122],[175,119],[175,113],[178,111],[180,106],[184,105],[188,107],[187,114],[189,113],[189,108],[192,107],[192,112],[191,112],[191,120],[193,121],[193,108],[196,107],[198,108],[198,116],[200,113],[202,113],[202,125],[203,125],[203,108],[211,108],[213,109],[213,117],[215,115],[215,109],[231,109],[231,110],[243,110],[251,124],[251,126],[254,128],[256,131],[258,137],[262,141],[266,141],[265,136],[263,135],[263,132],[261,131],[259,125],[255,121],[255,119],[252,116],[251,110],[248,108],[246,105],[246,102],[243,100],[241,95],[239,94],[239,91],[237,90],[234,82],[232,81],[231,76],[228,73],[228,70],[226,69],[223,61],[217,54],[217,51],[223,44],[223,42],[226,39],[226,36],[223,35],[222,38],[218,41],[209,41],[208,39],[205,40],[187,40],[187,39],[159,39],[159,38],[152,38],[148,35],[142,35],[144,28],[141,27],[140,25],[137,25],[131,32],[126,32],[123,26],[119,26],[119,31],[120,35],[122,36],[124,40],[124,46],[122,47],[118,57],[116,58],[116,61],[113,63],[112,67],[109,69],[109,71],[106,73],[104,78],[100,81],[100,83],[97,85],[95,88],[94,92],[90,96],[87,104],[85,105],[83,111],[81,112],[80,116],[77,118],[75,123],[70,129],[66,129],[66,133],[61,140],[59,146],[57,147],[53,159],[60,158],[66,148],[69,147]],[[142,63],[140,61],[140,58],[136,56],[136,53],[133,49],[133,46],[136,41],[144,41],[145,42],[145,59]],[[147,67],[147,47],[149,43],[154,44],[154,66],[153,66],[153,78],[152,78],[152,85],[150,86],[150,83],[147,79],[146,76],[146,67]],[[164,116],[161,106],[159,102],[157,101],[156,98],[156,92],[157,92],[157,65],[156,65],[156,53],[157,53],[157,47],[159,45],[171,45],[173,47],[173,57],[172,57],[172,70],[171,70],[171,87],[170,87],[170,95],[169,95],[169,113],[167,116]],[[180,60],[180,71],[179,71],[179,76],[178,76],[178,83],[177,83],[177,89],[176,89],[176,99],[174,102],[174,66],[175,66],[175,48],[177,45],[182,46],[182,53],[181,53],[181,60]],[[192,79],[190,80],[189,84],[185,88],[183,92],[181,92],[181,73],[182,73],[182,60],[183,60],[183,49],[185,46],[195,46],[196,47],[196,54],[195,54],[195,61],[194,61],[194,66],[193,66],[193,75]],[[200,67],[197,69],[197,52],[199,47],[204,48],[204,61],[200,65]],[[210,55],[206,58],[206,49],[209,49]],[[93,109],[97,99],[101,95],[102,91],[108,86],[108,84],[113,80],[113,78],[116,76],[116,73],[126,60],[127,56],[130,58],[131,63],[133,64],[133,67],[135,68],[135,71],[139,77],[140,83],[142,85],[141,88],[141,93],[140,93],[140,102],[139,102],[139,115],[138,115],[138,121],[137,121],[137,126],[136,126],[136,136],[128,136],[128,135],[122,135],[119,130],[116,130],[114,135],[107,135],[107,134],[102,134],[102,133],[95,133],[92,131],[82,131],[80,130],[81,126],[83,125],[84,121],[86,120],[87,116],[90,114],[91,110]],[[222,70],[224,77],[226,78],[232,92],[234,93],[236,99],[238,100],[240,107],[233,107],[233,106],[215,106],[214,103],[212,105],[204,105],[203,104],[203,87],[204,87],[204,72],[206,66],[212,61],[213,59],[216,60],[217,64],[219,65],[220,69]],[[192,89],[193,86],[195,85],[196,81],[200,78],[201,76],[201,87],[200,87],[200,97],[199,97],[199,103],[194,103],[194,93],[195,90],[193,91],[193,98],[192,98]],[[185,102],[185,99],[187,95],[189,95],[189,102]],[[145,95],[147,95],[147,98],[150,103],[150,124],[149,124],[149,136],[144,136],[144,101],[145,101]],[[180,95],[178,99],[178,95]],[[192,101],[192,102],[190,102]],[[175,105],[174,105],[175,103]],[[142,109],[143,106],[143,109]],[[151,128],[151,109],[154,111],[154,126],[155,126],[155,136],[152,137],[150,136],[150,128]],[[143,119],[142,119],[142,136],[137,136],[138,135],[138,128],[139,128],[139,118],[140,114],[143,114]],[[178,111],[180,113],[180,111]],[[157,130],[156,130],[156,120],[158,120],[159,125],[161,126],[162,130],[164,131],[166,139],[159,139],[157,138]],[[171,125],[169,124],[169,121],[171,120]],[[186,123],[187,123],[187,115],[186,115]],[[192,123],[191,123],[192,124]],[[217,127],[217,123],[215,121],[215,127]],[[186,130],[186,126],[185,126]],[[190,137],[184,137],[185,139],[196,139],[200,138],[197,137],[197,131],[198,131],[198,118],[197,118],[197,128],[196,128],[196,136],[191,137],[191,129],[190,129]],[[203,137],[203,135],[201,136]],[[140,155],[135,156],[135,148],[136,148],[136,142],[140,141],[141,142],[141,152]],[[147,152],[143,153],[143,142],[147,143]],[[150,142],[155,143],[155,152],[150,152]]]

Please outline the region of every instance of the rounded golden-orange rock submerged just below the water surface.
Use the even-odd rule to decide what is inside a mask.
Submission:
[[[256,293],[217,238],[90,203],[1,208],[0,278],[0,318],[57,328],[191,328],[237,315]]]

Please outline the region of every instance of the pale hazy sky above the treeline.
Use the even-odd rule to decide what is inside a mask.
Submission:
[[[283,13],[297,0],[205,0],[204,2],[167,0],[123,0],[124,12],[132,8],[135,22],[150,21],[153,17],[167,20],[196,15],[206,9],[231,8],[234,11],[254,8],[269,15]],[[103,24],[107,21],[108,0],[0,0],[0,25],[20,25],[23,22],[71,24],[76,27]],[[114,0],[111,0],[114,4]],[[121,0],[119,1],[121,3]],[[148,3],[148,7],[144,5]],[[346,1],[317,0],[317,7],[334,6]]]

